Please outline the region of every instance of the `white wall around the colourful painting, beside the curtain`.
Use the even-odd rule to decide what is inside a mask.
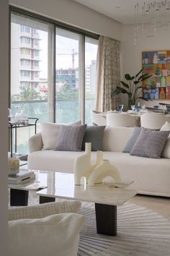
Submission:
[[[133,42],[133,25],[122,26],[122,79],[126,73],[136,74],[142,67],[142,51],[170,50],[170,26],[167,31],[156,30],[155,38],[147,38],[140,33],[136,46]],[[125,97],[124,97],[125,99]],[[148,101],[153,106],[159,101]],[[166,102],[167,101],[162,101]],[[170,101],[168,101],[170,103]]]

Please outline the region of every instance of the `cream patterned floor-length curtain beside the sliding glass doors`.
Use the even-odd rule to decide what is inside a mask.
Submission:
[[[120,41],[100,35],[97,51],[96,111],[106,112],[117,108],[120,95],[111,98],[117,85],[120,85]]]

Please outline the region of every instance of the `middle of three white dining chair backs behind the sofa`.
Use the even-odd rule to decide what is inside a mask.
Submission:
[[[107,126],[109,127],[138,127],[139,116],[121,113],[107,114]]]

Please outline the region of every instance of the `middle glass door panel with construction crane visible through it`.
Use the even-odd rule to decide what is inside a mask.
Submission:
[[[55,39],[55,121],[81,119],[82,35],[56,28]]]

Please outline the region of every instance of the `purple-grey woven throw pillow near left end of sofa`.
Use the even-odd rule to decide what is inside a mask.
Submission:
[[[54,150],[81,151],[86,124],[61,125]]]

